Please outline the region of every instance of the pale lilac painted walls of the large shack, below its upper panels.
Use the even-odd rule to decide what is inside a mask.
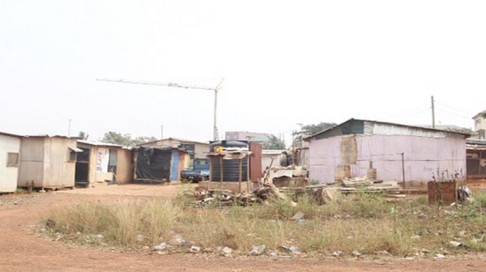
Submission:
[[[466,173],[466,141],[459,137],[409,135],[346,135],[312,139],[309,148],[309,179],[332,182],[341,165],[341,139],[355,137],[358,160],[351,165],[353,177],[366,176],[373,161],[378,179],[402,181],[402,156],[407,182],[427,183],[436,169]]]

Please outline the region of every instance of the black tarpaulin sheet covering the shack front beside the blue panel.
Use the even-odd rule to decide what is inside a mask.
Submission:
[[[138,149],[137,179],[170,179],[170,158],[172,149],[140,147]]]

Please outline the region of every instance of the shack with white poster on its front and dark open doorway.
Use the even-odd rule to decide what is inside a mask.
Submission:
[[[76,186],[89,187],[105,181],[133,181],[135,164],[133,153],[128,147],[78,140],[78,148],[82,152],[78,153],[76,160]]]

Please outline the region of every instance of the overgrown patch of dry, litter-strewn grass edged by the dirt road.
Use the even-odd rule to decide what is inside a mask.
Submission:
[[[251,207],[214,204],[200,208],[193,206],[193,199],[181,195],[175,202],[85,202],[53,211],[48,218],[56,222],[51,233],[59,232],[64,241],[75,243],[136,249],[179,234],[203,248],[228,246],[242,252],[252,245],[266,245],[269,250],[294,245],[318,255],[337,250],[348,256],[353,250],[374,255],[386,250],[406,257],[422,249],[485,252],[486,194],[474,197],[471,204],[440,209],[429,206],[425,197],[389,202],[380,195],[366,194],[349,195],[322,206],[304,195],[293,197],[297,206],[269,199]],[[297,211],[305,214],[305,220],[291,219]],[[97,234],[103,239],[91,239]],[[139,234],[143,241],[136,239]],[[450,248],[452,240],[464,246]]]

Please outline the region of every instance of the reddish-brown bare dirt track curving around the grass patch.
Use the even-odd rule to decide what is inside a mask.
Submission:
[[[33,232],[50,209],[86,200],[174,197],[179,186],[107,186],[0,196],[0,271],[486,271],[486,256],[446,259],[272,259],[111,252],[66,245]]]

